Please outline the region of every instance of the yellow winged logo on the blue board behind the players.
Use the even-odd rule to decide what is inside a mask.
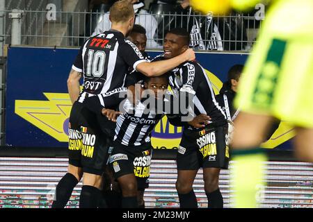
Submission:
[[[207,70],[206,70],[207,71]],[[223,83],[207,71],[215,94]],[[68,142],[68,126],[72,103],[67,93],[47,93],[46,101],[15,100],[15,114],[44,131],[58,142]],[[87,128],[81,129],[83,132]],[[294,129],[286,121],[282,121],[271,139],[262,144],[264,148],[274,148],[294,137]],[[182,127],[170,125],[167,117],[163,117],[152,132],[152,146],[156,149],[177,149],[182,137]]]

